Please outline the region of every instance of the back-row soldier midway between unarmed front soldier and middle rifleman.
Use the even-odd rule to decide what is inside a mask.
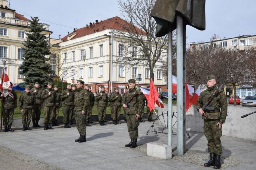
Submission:
[[[108,95],[105,93],[105,86],[101,85],[101,91],[95,96],[96,101],[98,102],[98,112],[99,112],[99,125],[106,125],[104,123],[106,109],[108,105]]]

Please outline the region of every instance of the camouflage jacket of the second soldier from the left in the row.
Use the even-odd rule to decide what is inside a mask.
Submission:
[[[23,93],[21,96],[20,96],[20,99],[19,99],[19,106],[20,106],[20,110],[22,109],[32,109],[33,108],[33,104],[35,102],[35,97],[32,93]]]

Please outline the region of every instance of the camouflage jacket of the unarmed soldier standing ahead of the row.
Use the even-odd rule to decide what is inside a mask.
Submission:
[[[90,107],[90,93],[83,87],[75,91],[75,111],[86,111]]]

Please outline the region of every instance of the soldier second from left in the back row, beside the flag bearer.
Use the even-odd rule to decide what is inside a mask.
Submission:
[[[29,86],[26,86],[25,93],[23,93],[19,99],[19,106],[20,106],[20,111],[22,114],[22,125],[23,125],[22,130],[23,131],[26,131],[26,130],[31,131],[32,130],[29,127],[29,125],[30,125],[30,117],[32,115],[34,102],[35,102],[34,95],[30,93]]]

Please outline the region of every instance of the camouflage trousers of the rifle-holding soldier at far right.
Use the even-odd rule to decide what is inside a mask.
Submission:
[[[204,121],[204,135],[208,140],[207,146],[209,153],[222,154],[221,135],[222,131],[219,129],[217,123],[219,120],[205,120]]]

